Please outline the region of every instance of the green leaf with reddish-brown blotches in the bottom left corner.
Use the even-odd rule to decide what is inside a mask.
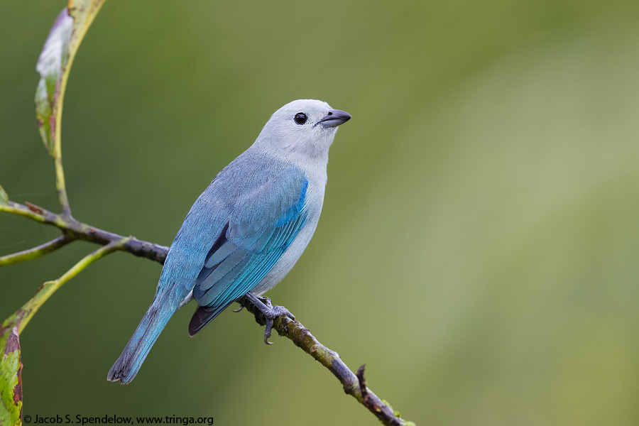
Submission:
[[[16,315],[0,327],[0,425],[22,425],[22,363]]]

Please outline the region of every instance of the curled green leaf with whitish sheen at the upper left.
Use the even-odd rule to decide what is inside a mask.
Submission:
[[[60,157],[62,101],[73,58],[104,0],[70,0],[55,19],[35,70],[40,81],[35,89],[35,115],[40,136],[54,158]]]

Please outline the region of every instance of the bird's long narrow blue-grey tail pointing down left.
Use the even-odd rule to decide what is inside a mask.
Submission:
[[[129,343],[109,370],[107,380],[120,381],[126,385],[136,376],[155,340],[178,309],[177,305],[163,299],[164,297],[158,297],[153,300]]]

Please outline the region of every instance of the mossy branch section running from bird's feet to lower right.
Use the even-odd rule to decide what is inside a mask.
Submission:
[[[263,313],[250,300],[242,297],[239,303],[255,316],[258,324],[266,325],[266,318]],[[339,354],[321,344],[299,321],[293,321],[286,316],[278,317],[273,322],[273,328],[277,330],[280,336],[290,339],[295,346],[315,358],[322,366],[328,368],[337,377],[337,380],[342,383],[344,392],[353,396],[359,403],[368,408],[383,425],[415,426],[415,423],[403,420],[400,414],[395,413],[390,405],[384,403],[383,400],[368,389],[365,383],[361,383],[356,374],[339,358]],[[362,367],[360,367],[361,378],[364,379],[364,368]]]

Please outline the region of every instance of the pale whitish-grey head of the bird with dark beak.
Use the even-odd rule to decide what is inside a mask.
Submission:
[[[256,146],[292,160],[328,159],[337,126],[351,115],[315,99],[298,99],[275,111]]]

